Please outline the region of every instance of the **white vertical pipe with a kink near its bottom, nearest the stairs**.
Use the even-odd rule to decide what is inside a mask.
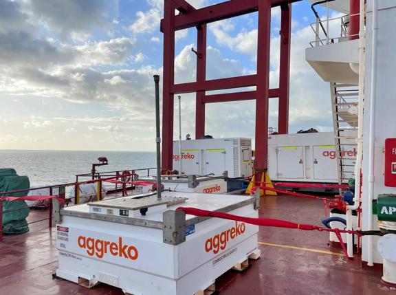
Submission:
[[[365,0],[360,0],[360,25],[359,25],[359,106],[358,106],[358,153],[355,165],[355,195],[353,205],[347,206],[347,230],[352,230],[352,210],[356,210],[361,204],[360,171],[362,169],[363,155],[363,116],[364,116],[364,63],[366,36],[364,34],[364,20],[366,18]],[[350,257],[353,256],[352,234],[347,234],[347,250]]]

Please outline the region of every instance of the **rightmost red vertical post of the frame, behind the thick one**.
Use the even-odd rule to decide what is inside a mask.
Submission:
[[[278,133],[289,133],[289,73],[292,6],[281,6],[281,58],[279,65]]]

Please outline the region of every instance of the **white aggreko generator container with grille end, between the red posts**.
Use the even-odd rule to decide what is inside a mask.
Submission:
[[[252,140],[250,138],[213,138],[173,142],[173,169],[187,175],[252,175]]]

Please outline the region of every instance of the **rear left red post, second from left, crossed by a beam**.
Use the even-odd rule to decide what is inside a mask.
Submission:
[[[197,27],[197,82],[206,80],[206,24]],[[197,91],[195,107],[195,139],[205,135],[205,91]]]

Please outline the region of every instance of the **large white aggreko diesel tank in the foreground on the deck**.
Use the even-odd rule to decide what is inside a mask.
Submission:
[[[137,196],[134,196],[137,197]],[[259,226],[201,219],[179,206],[258,217],[259,195],[163,192],[71,206],[55,218],[56,275],[134,295],[203,294],[221,274],[258,259]]]

